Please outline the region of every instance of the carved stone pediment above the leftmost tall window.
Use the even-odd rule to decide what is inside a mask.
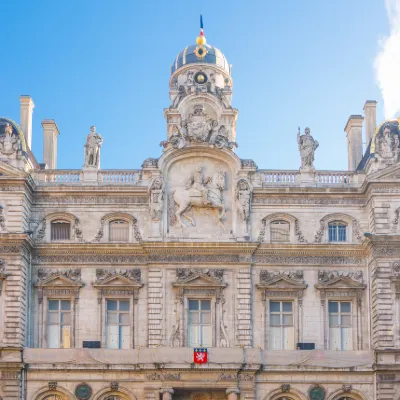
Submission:
[[[59,296],[79,299],[79,290],[84,284],[81,281],[82,270],[80,268],[53,270],[51,268],[39,268],[38,279],[35,288],[38,289],[39,304],[43,297]]]

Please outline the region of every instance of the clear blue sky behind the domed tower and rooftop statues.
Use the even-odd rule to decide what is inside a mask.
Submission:
[[[378,101],[373,61],[389,31],[384,0],[4,1],[0,115],[19,120],[19,96],[60,129],[58,168],[81,168],[89,127],[102,134],[104,169],[140,168],[166,137],[170,65],[207,41],[233,65],[237,154],[259,168],[298,169],[297,127],[320,147],[318,169],[347,169],[350,114]]]

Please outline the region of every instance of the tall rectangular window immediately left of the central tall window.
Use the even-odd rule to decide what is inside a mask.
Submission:
[[[129,349],[129,300],[106,300],[106,347]]]

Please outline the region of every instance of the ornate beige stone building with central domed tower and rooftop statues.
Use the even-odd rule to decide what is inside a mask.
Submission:
[[[56,169],[53,120],[39,164],[29,96],[0,119],[0,396],[398,400],[399,121],[350,116],[348,171],[315,170],[308,128],[299,170],[261,170],[204,36],[169,87],[138,170],[100,169],[95,127],[82,169]]]

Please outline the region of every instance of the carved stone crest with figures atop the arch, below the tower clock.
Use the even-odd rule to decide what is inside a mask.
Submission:
[[[171,146],[180,149],[187,143],[208,143],[219,149],[233,149],[235,142],[229,141],[228,127],[212,119],[205,111],[203,104],[194,104],[192,113],[183,120],[168,141],[161,142],[164,148]]]

